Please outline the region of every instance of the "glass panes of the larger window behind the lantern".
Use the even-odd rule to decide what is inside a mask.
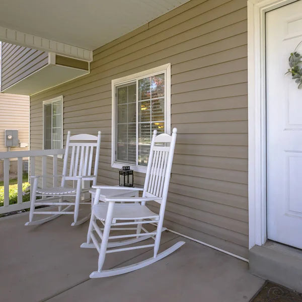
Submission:
[[[165,133],[165,74],[117,86],[116,105],[115,161],[146,166],[153,131]]]

